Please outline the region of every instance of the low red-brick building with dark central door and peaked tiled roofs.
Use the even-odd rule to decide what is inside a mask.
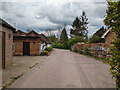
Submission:
[[[18,30],[13,36],[14,55],[40,55],[49,41],[43,34]]]

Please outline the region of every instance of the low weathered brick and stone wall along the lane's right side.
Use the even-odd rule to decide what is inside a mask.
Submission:
[[[110,45],[106,43],[74,44],[72,50],[98,58],[110,58]]]

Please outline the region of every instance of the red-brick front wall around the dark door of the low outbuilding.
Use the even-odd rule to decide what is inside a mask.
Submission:
[[[14,38],[14,55],[23,55],[23,42],[30,42],[30,55],[40,55],[40,38]]]

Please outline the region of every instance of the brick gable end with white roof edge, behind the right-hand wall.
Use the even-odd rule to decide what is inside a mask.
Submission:
[[[108,45],[111,45],[111,42],[115,39],[116,34],[113,31],[110,31],[110,29],[108,29],[101,38],[105,38],[105,43]]]

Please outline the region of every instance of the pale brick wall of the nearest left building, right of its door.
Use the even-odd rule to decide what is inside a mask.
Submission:
[[[13,60],[13,52],[12,52],[12,44],[13,44],[13,31],[11,29],[8,29],[6,27],[2,27],[2,31],[5,32],[5,64],[6,67],[9,67],[12,65]],[[9,38],[10,34],[10,38]]]

